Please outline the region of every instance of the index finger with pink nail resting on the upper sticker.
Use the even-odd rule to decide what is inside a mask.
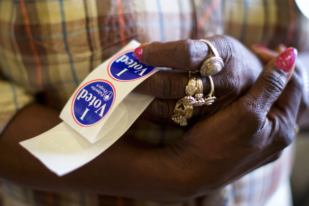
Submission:
[[[206,39],[218,50],[224,65],[234,52],[234,45],[239,44],[228,36],[217,35]],[[188,39],[142,44],[134,50],[133,54],[146,65],[190,71],[198,69],[209,53],[207,44],[199,40]]]

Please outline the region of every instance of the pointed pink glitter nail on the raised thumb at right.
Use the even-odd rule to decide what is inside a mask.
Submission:
[[[275,61],[275,66],[281,69],[282,71],[288,72],[294,65],[294,62],[297,57],[297,49],[289,47],[279,54]]]

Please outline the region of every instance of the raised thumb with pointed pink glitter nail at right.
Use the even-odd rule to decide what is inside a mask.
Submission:
[[[290,47],[269,61],[256,82],[244,95],[245,103],[250,106],[248,108],[254,107],[252,109],[267,114],[289,81],[295,68],[296,57],[296,48]]]

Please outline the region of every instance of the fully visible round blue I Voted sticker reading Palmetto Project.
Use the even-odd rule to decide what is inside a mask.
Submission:
[[[79,88],[72,102],[72,116],[77,124],[85,127],[97,124],[112,108],[115,88],[112,83],[97,79]]]

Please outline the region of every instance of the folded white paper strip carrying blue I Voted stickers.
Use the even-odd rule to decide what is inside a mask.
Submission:
[[[139,63],[138,46],[132,40],[84,79],[61,111],[64,122],[20,144],[59,176],[111,146],[154,99],[131,92],[161,69]]]

